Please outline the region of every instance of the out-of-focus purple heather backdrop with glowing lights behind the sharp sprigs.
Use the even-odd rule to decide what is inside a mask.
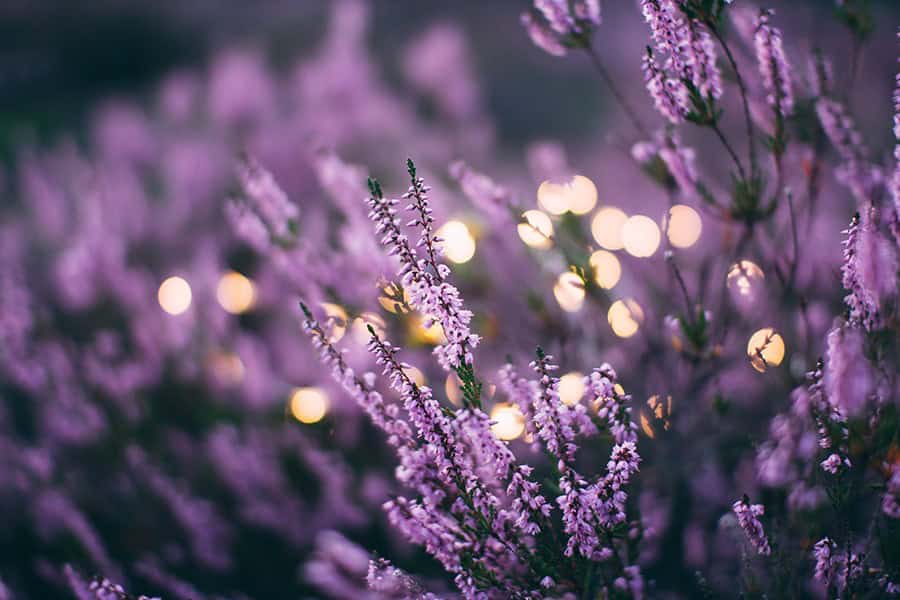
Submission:
[[[835,95],[851,107],[872,159],[885,162],[900,3],[869,3],[875,28],[861,52],[832,18],[834,2],[771,4],[797,87],[804,59],[825,48]],[[657,534],[646,540],[648,579],[669,597],[697,597],[693,573],[702,569],[733,592],[739,556],[720,517],[735,490],[759,490],[752,451],[842,311],[839,235],[853,200],[829,172],[821,210],[804,206],[813,250],[799,269],[803,300],[773,273],[784,257],[778,241],[788,239],[785,211],[760,226],[768,237],[734,257],[755,261],[754,276],[728,276],[729,287],[737,279],[744,291],[758,289],[725,313],[725,350],[704,357],[712,356],[708,370],[689,357],[690,370],[683,340],[665,325],[680,306],[662,260],[669,246],[660,244],[673,198],[636,168],[632,144],[647,140],[636,138],[588,57],[556,58],[531,43],[519,23],[528,5],[0,5],[0,600],[4,582],[16,599],[64,597],[73,585],[65,565],[164,597],[357,598],[370,552],[434,589],[451,587],[385,522],[381,504],[399,488],[391,449],[319,366],[297,310],[303,296],[360,369],[372,368],[365,325],[387,330],[410,348],[416,377],[458,400],[452,376],[430,358],[440,336],[387,297],[391,265],[360,202],[368,172],[401,193],[409,155],[435,186],[438,221],[463,232],[451,260],[485,336],[479,368],[489,380],[507,356],[527,364],[545,344],[580,394],[582,374],[613,363],[646,417],[646,483],[635,503]],[[656,130],[661,119],[640,75],[648,38],[637,2],[603,8],[597,52]],[[754,68],[739,33],[729,32],[739,62]],[[742,135],[733,88],[724,106],[725,128]],[[699,170],[727,196],[727,157],[708,132],[683,129]],[[787,163],[801,189],[805,144],[814,144],[797,138]],[[827,154],[822,139],[816,152]],[[244,153],[299,207],[276,207],[287,217],[281,239],[270,239],[265,219],[247,218],[255,194],[272,188],[253,163],[239,162]],[[466,179],[456,159],[506,187]],[[505,210],[547,208],[538,186],[562,172],[590,178],[593,197],[577,216],[549,211],[560,239],[619,257],[606,253],[615,281],[587,300],[583,288],[560,291],[572,263],[562,244],[517,234],[515,210]],[[496,210],[498,198],[509,205]],[[702,237],[697,225],[678,246],[688,285],[698,302],[721,294],[713,308],[724,312],[734,268],[725,249],[737,226],[696,199],[679,201],[697,209],[691,223],[703,219]],[[649,251],[592,239],[595,207],[650,215],[649,234],[638,232],[655,236]],[[631,329],[622,333],[607,309],[633,298],[641,316],[626,310]],[[807,300],[804,320],[798,307]],[[766,327],[784,336],[768,372],[747,359],[748,338]],[[510,426],[505,439],[533,458],[522,423]],[[586,454],[596,471],[608,449]],[[782,491],[770,493],[783,499]]]

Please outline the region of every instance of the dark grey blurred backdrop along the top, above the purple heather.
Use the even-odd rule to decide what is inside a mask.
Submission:
[[[201,69],[223,48],[263,49],[273,65],[285,69],[317,47],[325,33],[329,4],[327,0],[4,2],[0,6],[0,151],[9,158],[17,143],[77,131],[98,100],[111,95],[146,99],[167,72]],[[368,45],[384,76],[396,82],[401,78],[405,44],[428,25],[452,22],[468,38],[504,147],[541,136],[579,143],[601,134],[610,125],[602,84],[590,75],[586,57],[558,60],[531,45],[517,21],[527,4],[376,0],[371,2]],[[610,57],[612,67],[620,74],[629,73],[639,66],[637,50],[645,43],[640,15],[630,0],[608,4],[604,7],[608,26],[599,47],[614,49],[617,56]],[[849,34],[831,18],[831,0],[775,4],[777,10],[789,12],[792,32],[803,44],[815,47],[843,39],[849,50]],[[900,13],[892,0],[870,4],[879,26],[867,50],[871,70],[863,65],[863,72],[869,74],[881,63],[875,57],[892,54],[891,24],[897,23]],[[838,72],[848,68],[849,60],[849,51],[835,56]],[[639,88],[635,91],[640,93]],[[879,109],[889,102],[883,90],[870,91],[869,101]],[[867,132],[871,130],[887,144],[889,132],[874,126],[866,114],[861,119]]]

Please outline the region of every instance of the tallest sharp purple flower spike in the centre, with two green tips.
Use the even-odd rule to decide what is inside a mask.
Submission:
[[[448,267],[438,262],[439,238],[433,235],[431,229],[433,219],[428,205],[429,188],[416,176],[412,161],[408,162],[408,168],[412,185],[404,199],[413,199],[407,209],[417,216],[409,225],[422,227],[417,246],[423,248],[426,257],[419,257],[400,229],[395,208],[399,200],[385,198],[374,180],[370,182],[371,195],[367,200],[371,209],[369,218],[375,222],[375,233],[381,236],[381,243],[389,248],[388,253],[397,256],[400,261],[397,275],[409,292],[410,305],[422,313],[426,328],[434,324],[441,326],[446,342],[434,350],[438,362],[446,370],[456,369],[472,363],[472,351],[478,346],[480,338],[469,329],[472,312],[463,307],[459,290],[446,281],[450,272]]]

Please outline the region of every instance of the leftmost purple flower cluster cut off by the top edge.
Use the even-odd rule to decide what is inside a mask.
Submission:
[[[574,38],[600,25],[599,0],[534,0],[534,10],[522,14],[532,43],[553,56],[565,56]]]

